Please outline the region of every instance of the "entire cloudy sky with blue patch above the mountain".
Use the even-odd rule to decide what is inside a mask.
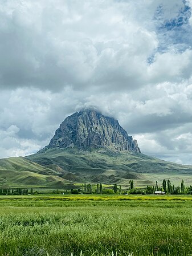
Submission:
[[[95,105],[142,153],[192,164],[192,0],[1,0],[0,157]]]

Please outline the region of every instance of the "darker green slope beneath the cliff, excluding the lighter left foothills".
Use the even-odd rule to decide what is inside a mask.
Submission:
[[[166,162],[137,152],[111,152],[109,149],[92,149],[90,152],[79,151],[77,148],[54,148],[28,156],[27,159],[44,166],[46,160],[49,164],[51,161],[75,177],[93,183],[128,185],[129,180],[133,179],[143,184],[148,181],[152,184],[152,174],[160,174],[162,179],[162,174],[169,176],[173,173],[180,180],[184,176],[191,176],[192,183],[192,166]]]

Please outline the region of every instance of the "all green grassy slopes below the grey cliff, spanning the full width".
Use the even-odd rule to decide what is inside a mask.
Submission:
[[[192,184],[192,166],[162,161],[136,152],[111,152],[76,148],[48,149],[28,157],[0,159],[0,187],[48,187],[77,189],[81,184],[119,184],[129,188],[153,186],[162,180],[180,185]],[[99,188],[100,189],[100,188]]]

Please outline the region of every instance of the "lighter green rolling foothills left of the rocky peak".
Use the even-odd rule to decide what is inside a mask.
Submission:
[[[66,174],[63,171],[62,176]],[[59,177],[58,172],[48,166],[42,166],[24,157],[0,159],[0,186],[57,186],[69,184],[71,181]]]

